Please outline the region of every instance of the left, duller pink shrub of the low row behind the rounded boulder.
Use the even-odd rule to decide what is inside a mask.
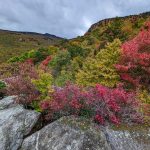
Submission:
[[[48,117],[57,113],[63,115],[78,115],[84,107],[85,94],[76,85],[67,84],[63,88],[55,87],[55,92],[51,95],[52,100],[41,103],[43,110],[48,110]]]

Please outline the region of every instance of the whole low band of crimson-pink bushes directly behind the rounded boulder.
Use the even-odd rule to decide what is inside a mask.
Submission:
[[[85,90],[67,84],[63,88],[55,88],[51,98],[41,103],[41,109],[50,120],[78,115],[92,118],[103,125],[108,122],[142,122],[135,94],[120,87],[109,89],[98,84],[95,88]]]

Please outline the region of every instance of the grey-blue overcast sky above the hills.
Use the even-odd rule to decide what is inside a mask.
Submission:
[[[0,0],[0,28],[73,38],[95,22],[150,11],[150,0]]]

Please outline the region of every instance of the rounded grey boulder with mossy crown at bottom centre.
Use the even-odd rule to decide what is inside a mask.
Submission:
[[[20,150],[111,150],[105,135],[89,121],[63,117],[27,137]]]

